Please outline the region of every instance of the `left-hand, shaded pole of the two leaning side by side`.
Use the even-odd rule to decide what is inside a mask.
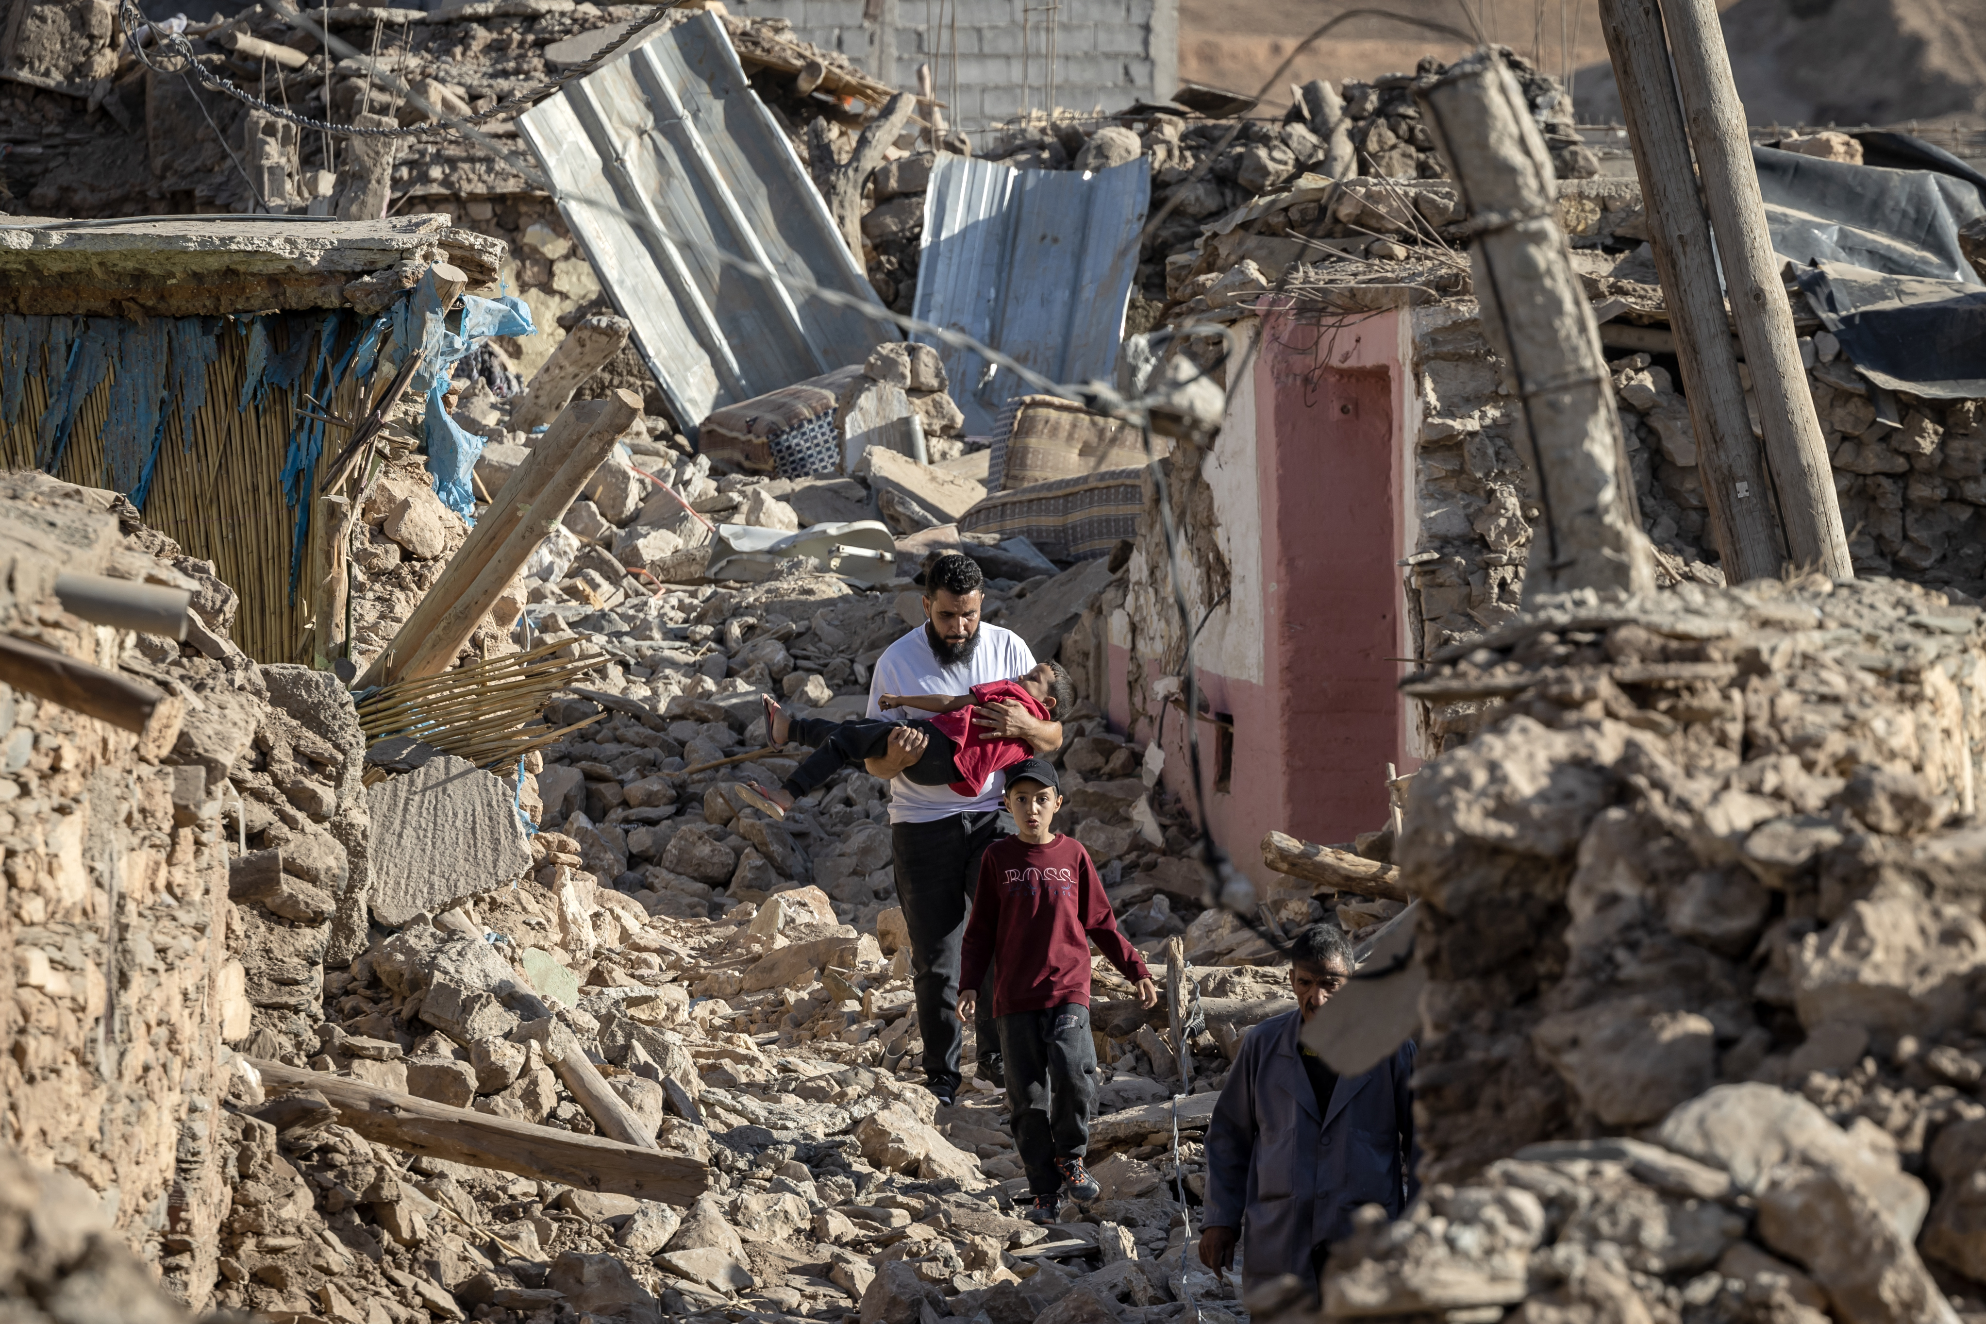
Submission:
[[[1682,393],[1696,431],[1696,464],[1710,536],[1732,584],[1777,576],[1789,546],[1772,502],[1766,451],[1752,435],[1744,383],[1732,349],[1710,220],[1696,195],[1690,135],[1668,64],[1656,0],[1601,0],[1601,32],[1621,87],[1648,246],[1662,278],[1662,302],[1676,333]]]

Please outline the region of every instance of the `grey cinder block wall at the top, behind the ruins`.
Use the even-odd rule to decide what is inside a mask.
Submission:
[[[1055,105],[1120,111],[1170,97],[1180,73],[1178,0],[735,0],[753,18],[784,18],[794,36],[842,52],[896,87],[916,89],[929,62],[947,119],[967,131],[1049,109],[1047,32],[1055,20]],[[1055,12],[1047,12],[1049,6]]]

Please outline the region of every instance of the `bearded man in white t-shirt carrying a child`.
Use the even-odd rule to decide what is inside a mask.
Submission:
[[[884,713],[878,695],[963,695],[973,685],[1011,681],[1035,669],[1035,655],[1021,635],[979,623],[985,576],[957,552],[939,556],[923,572],[923,627],[892,643],[870,677],[870,717]],[[973,725],[991,736],[1015,736],[1037,754],[1063,746],[1061,723],[1045,723],[1019,703],[973,709]],[[923,1086],[949,1104],[959,1092],[959,941],[979,881],[979,856],[1001,832],[1001,788],[993,772],[977,796],[949,786],[918,786],[902,776],[918,762],[925,734],[904,727],[890,736],[890,752],[866,762],[870,776],[890,782],[890,834],[896,844],[896,895],[910,929],[912,989],[918,1030],[923,1034]],[[987,977],[991,985],[991,975]],[[991,996],[979,998],[979,1060],[999,1078],[999,1036]]]

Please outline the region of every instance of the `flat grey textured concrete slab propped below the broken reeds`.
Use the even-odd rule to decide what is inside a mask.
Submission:
[[[371,913],[397,929],[530,871],[510,788],[443,754],[367,792]]]

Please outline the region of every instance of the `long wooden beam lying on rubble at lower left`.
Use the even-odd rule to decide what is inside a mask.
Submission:
[[[338,1110],[340,1125],[405,1153],[669,1205],[691,1205],[711,1185],[709,1169],[679,1153],[493,1118],[282,1062],[248,1058],[248,1064],[270,1094],[316,1090]]]

